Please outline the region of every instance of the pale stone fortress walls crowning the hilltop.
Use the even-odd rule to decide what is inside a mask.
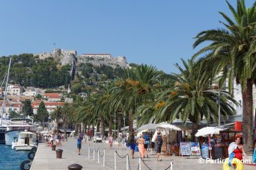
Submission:
[[[105,64],[107,66],[112,66],[113,68],[117,66],[127,67],[127,59],[124,56],[112,57],[112,54],[82,54],[78,55],[75,50],[64,50],[61,48],[55,48],[51,53],[40,53],[34,54],[38,56],[40,60],[48,57],[59,58],[61,65],[67,65],[76,62],[79,63],[91,63],[94,66],[100,66],[100,64]]]

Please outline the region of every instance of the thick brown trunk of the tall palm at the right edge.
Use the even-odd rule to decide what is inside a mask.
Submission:
[[[253,130],[252,130],[252,81],[247,81],[243,96],[243,145],[246,154],[253,152]]]

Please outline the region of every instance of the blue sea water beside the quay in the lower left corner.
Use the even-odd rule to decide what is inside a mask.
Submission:
[[[11,146],[0,145],[0,169],[18,170],[24,160],[28,160],[28,151],[16,151]]]

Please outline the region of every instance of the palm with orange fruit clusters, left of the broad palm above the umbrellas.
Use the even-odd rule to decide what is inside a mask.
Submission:
[[[124,78],[116,81],[111,89],[111,101],[113,108],[121,107],[128,113],[129,133],[132,133],[135,110],[142,101],[153,98],[161,74],[155,67],[147,65],[124,69],[124,72]]]

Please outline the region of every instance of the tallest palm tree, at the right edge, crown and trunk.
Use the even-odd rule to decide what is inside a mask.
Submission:
[[[225,29],[202,31],[193,47],[210,41],[194,57],[204,54],[201,65],[211,66],[213,72],[221,72],[223,84],[228,79],[232,92],[234,80],[242,85],[243,95],[243,143],[246,152],[252,153],[252,85],[256,83],[256,3],[246,8],[244,0],[237,0],[237,10],[228,3],[234,19],[219,12],[226,23]],[[209,70],[210,72],[210,70]]]

